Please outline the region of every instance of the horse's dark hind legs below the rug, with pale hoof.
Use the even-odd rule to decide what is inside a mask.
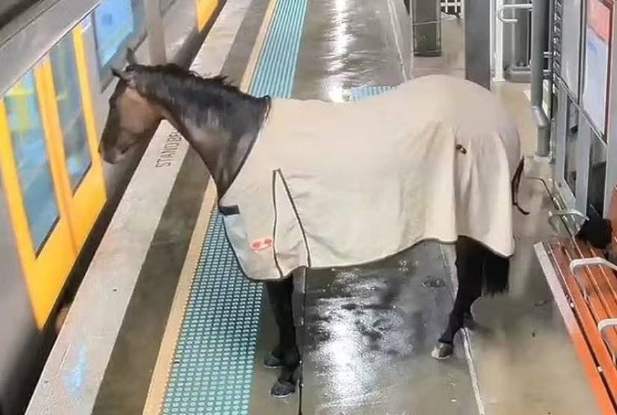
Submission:
[[[486,249],[475,240],[461,237],[456,241],[456,276],[459,287],[446,329],[431,353],[435,359],[452,356],[456,333],[463,326],[475,325],[471,306],[482,294],[482,266],[485,255]]]

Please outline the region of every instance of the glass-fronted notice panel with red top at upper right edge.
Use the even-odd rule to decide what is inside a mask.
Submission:
[[[588,0],[587,6],[583,108],[595,128],[604,135],[611,9],[599,0]]]

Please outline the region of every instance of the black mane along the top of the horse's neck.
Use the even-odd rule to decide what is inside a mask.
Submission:
[[[136,75],[133,79],[140,94],[170,111],[179,111],[178,116],[190,116],[196,121],[208,121],[204,113],[217,114],[219,118],[229,116],[230,107],[248,111],[245,116],[252,115],[251,108],[259,107],[265,109],[265,116],[271,105],[269,95],[255,97],[243,93],[224,75],[205,77],[177,64],[132,64],[126,72]]]

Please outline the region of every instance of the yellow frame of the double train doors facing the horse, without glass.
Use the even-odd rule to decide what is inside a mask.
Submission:
[[[11,130],[8,127],[6,105],[4,99],[0,100],[0,175],[6,189],[8,210],[34,319],[39,328],[46,324],[77,255],[107,200],[102,165],[97,152],[97,132],[81,27],[76,27],[68,36],[73,38],[81,104],[92,163],[73,193],[67,169],[62,125],[57,109],[53,72],[49,55],[46,55],[31,70],[34,74],[36,99],[40,109],[39,116],[43,125],[60,218],[38,255],[30,236],[25,202],[11,142]]]

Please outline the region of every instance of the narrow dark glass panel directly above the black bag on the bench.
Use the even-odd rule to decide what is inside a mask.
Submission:
[[[604,215],[604,184],[606,182],[606,145],[592,132],[589,154],[588,213]]]

